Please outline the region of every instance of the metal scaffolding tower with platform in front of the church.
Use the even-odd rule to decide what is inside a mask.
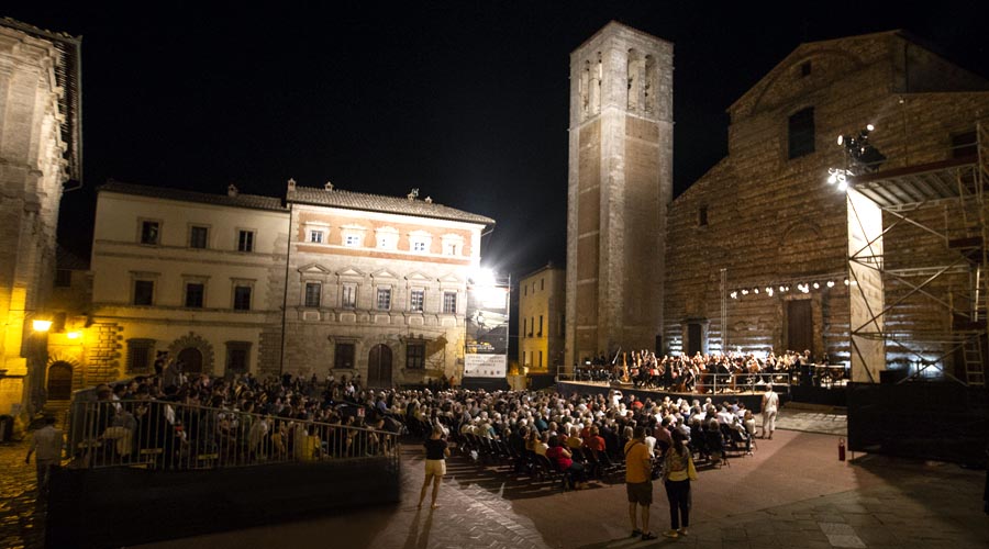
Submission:
[[[848,254],[849,278],[856,280],[856,271],[874,271],[881,277],[878,288],[866,281],[853,283],[852,289],[858,292],[853,301],[857,300],[859,311],[866,312],[865,322],[853,322],[851,326],[852,352],[857,352],[862,362],[880,360],[879,357],[884,360],[881,365],[864,365],[869,377],[870,372],[886,370],[889,352],[896,351],[913,357],[916,365],[915,371],[899,380],[901,383],[944,377],[966,385],[986,385],[989,121],[976,124],[975,143],[957,148],[955,156],[849,177],[852,188],[875,203],[882,217],[881,231],[869,234],[864,246],[852,246],[857,249],[849,248]],[[868,221],[859,220],[859,212],[851,204],[849,201],[849,223],[866,225]],[[935,208],[944,212],[943,224],[931,212]],[[935,219],[938,222],[932,223]],[[891,231],[907,225],[940,240],[943,253],[930,254],[930,247],[910,242],[882,242]],[[896,249],[884,244],[892,244]],[[890,265],[888,259],[893,256],[896,265]],[[871,294],[867,295],[869,291]],[[918,307],[926,306],[943,311],[944,322],[929,326],[889,322],[915,315]],[[924,313],[931,317],[930,311]],[[877,341],[881,351],[863,352],[856,340]]]

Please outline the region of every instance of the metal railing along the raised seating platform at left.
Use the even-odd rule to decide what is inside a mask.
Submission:
[[[69,467],[196,470],[387,458],[398,434],[173,402],[74,402]]]

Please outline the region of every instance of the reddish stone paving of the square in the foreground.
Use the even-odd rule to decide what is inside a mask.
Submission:
[[[691,531],[679,539],[627,537],[621,479],[562,492],[556,483],[512,478],[463,456],[449,460],[441,508],[418,509],[422,451],[403,447],[403,503],[290,524],[149,544],[148,548],[292,546],[420,548],[967,548],[989,547],[982,512],[985,471],[859,455],[838,462],[841,411],[785,406],[774,440],[754,457],[701,471]],[[799,429],[799,430],[788,430]],[[822,434],[823,433],[823,434]],[[42,547],[44,507],[35,506],[26,446],[0,445],[0,547]],[[668,513],[662,488],[652,529]]]

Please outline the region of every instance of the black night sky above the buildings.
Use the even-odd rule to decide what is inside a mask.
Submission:
[[[85,187],[59,239],[84,257],[108,178],[273,197],[295,178],[416,187],[497,220],[482,254],[501,272],[563,264],[568,56],[610,20],[674,43],[675,195],[725,155],[727,107],[802,42],[904,29],[989,76],[976,1],[84,3],[0,10],[82,35]]]

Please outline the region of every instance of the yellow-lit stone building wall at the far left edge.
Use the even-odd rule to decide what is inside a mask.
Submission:
[[[0,21],[0,414],[44,403],[63,183],[81,178],[79,41]],[[26,407],[25,407],[26,406]]]

